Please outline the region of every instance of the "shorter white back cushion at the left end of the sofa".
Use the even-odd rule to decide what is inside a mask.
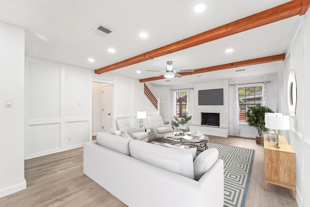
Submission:
[[[111,150],[130,155],[129,141],[131,138],[121,137],[105,132],[98,132],[97,143]]]

